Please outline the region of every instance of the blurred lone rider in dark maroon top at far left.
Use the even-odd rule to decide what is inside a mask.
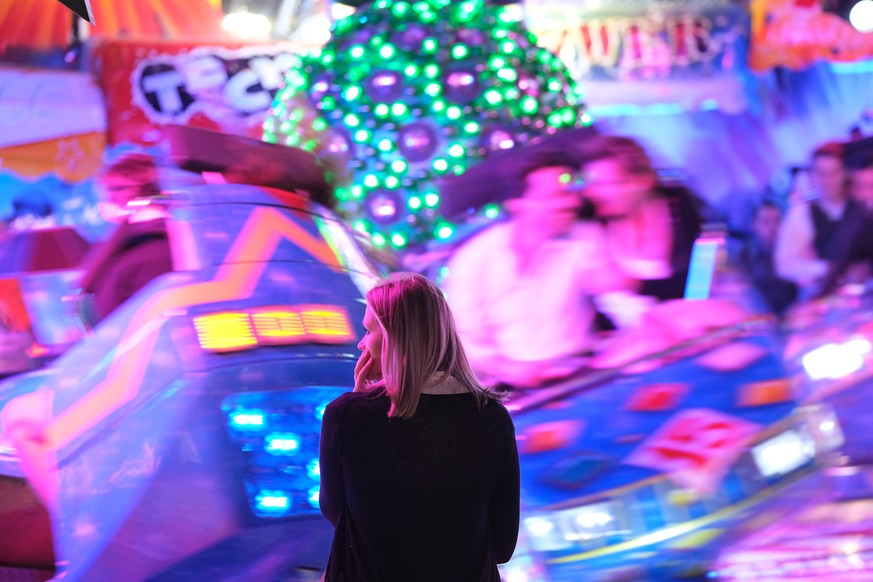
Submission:
[[[97,323],[155,277],[173,270],[166,209],[158,168],[146,154],[128,154],[101,174],[98,186],[103,218],[117,224],[109,240],[85,259],[82,292],[92,295]]]

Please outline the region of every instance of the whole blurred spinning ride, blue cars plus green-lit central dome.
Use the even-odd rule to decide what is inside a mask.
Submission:
[[[0,581],[318,580],[321,412],[352,388],[379,251],[450,248],[499,217],[516,146],[590,121],[509,8],[377,0],[291,71],[273,143],[170,132],[173,161],[204,177],[160,202],[174,272],[106,320],[76,298],[72,229],[4,239]],[[286,172],[215,178],[240,160]],[[323,191],[325,169],[351,227],[276,188]],[[688,301],[604,367],[513,394],[507,582],[718,578],[723,548],[823,481],[863,493],[869,290],[779,328],[718,298],[717,244],[701,239]]]

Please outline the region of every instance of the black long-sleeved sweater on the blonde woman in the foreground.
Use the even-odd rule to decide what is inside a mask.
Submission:
[[[498,582],[518,536],[519,468],[506,409],[423,394],[388,418],[384,391],[325,410],[321,512],[336,528],[327,582]]]

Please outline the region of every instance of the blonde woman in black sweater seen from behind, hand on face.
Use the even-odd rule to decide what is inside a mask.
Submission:
[[[324,411],[326,582],[499,582],[519,527],[501,397],[476,379],[442,292],[395,274],[367,293],[355,391]]]

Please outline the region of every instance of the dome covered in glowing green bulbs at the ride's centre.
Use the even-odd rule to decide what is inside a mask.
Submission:
[[[376,0],[288,72],[264,139],[314,152],[354,228],[402,249],[451,238],[442,178],[590,122],[564,64],[513,10]]]

